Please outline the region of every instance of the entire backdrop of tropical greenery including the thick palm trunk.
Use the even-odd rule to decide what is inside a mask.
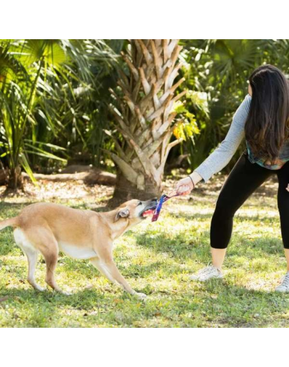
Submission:
[[[165,166],[184,157],[192,170],[222,141],[255,67],[271,63],[289,74],[288,40],[180,40],[164,54],[166,42],[1,40],[0,155],[8,186],[23,186],[21,170],[33,180],[33,172],[68,162],[118,170],[119,183],[160,191]]]

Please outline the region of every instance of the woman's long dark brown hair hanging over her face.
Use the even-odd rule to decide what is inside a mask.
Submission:
[[[252,88],[245,136],[255,157],[273,162],[289,137],[289,83],[275,66],[262,65],[249,78]]]

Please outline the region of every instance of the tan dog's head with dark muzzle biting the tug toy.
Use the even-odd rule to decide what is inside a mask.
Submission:
[[[116,221],[129,221],[129,227],[140,223],[156,209],[158,199],[154,198],[147,201],[132,199],[120,205],[116,212]]]

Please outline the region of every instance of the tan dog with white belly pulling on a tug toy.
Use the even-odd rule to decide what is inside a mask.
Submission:
[[[43,291],[35,282],[34,272],[39,252],[46,263],[45,282],[52,289],[61,289],[55,282],[54,271],[58,252],[73,258],[89,259],[111,282],[121,285],[130,294],[144,298],[123,278],[112,257],[113,242],[145,215],[156,208],[157,199],[130,200],[110,212],[97,213],[52,203],[36,203],[24,208],[19,216],[0,222],[0,230],[14,227],[15,242],[28,258],[28,282]]]

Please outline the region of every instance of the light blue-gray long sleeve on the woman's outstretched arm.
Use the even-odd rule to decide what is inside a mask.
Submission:
[[[215,173],[220,172],[237,151],[245,136],[245,122],[250,109],[251,96],[247,94],[233,116],[231,127],[222,143],[195,169],[204,181],[208,181]]]

